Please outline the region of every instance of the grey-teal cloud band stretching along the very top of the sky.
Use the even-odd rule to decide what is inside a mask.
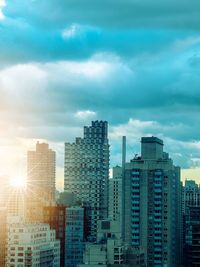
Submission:
[[[7,16],[29,19],[48,28],[78,23],[110,28],[198,29],[199,8],[196,0],[7,0],[5,11]]]

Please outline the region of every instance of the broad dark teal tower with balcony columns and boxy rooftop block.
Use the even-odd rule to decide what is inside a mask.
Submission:
[[[141,157],[125,165],[125,241],[141,248],[147,266],[180,266],[180,168],[163,141],[142,137]]]

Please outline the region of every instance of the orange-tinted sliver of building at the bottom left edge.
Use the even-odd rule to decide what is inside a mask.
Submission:
[[[0,208],[0,266],[5,266],[7,252],[7,209]]]

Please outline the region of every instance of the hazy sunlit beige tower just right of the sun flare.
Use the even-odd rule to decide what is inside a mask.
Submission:
[[[27,218],[41,222],[43,207],[55,204],[56,154],[45,143],[36,144],[27,158]]]

